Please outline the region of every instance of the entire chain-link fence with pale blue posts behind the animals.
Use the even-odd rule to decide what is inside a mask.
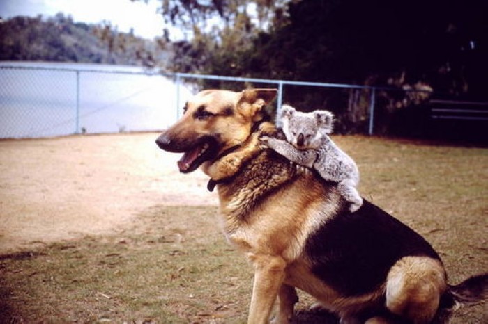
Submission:
[[[445,123],[432,123],[435,111],[429,106],[430,88],[162,74],[113,65],[4,62],[0,63],[0,138],[160,131],[181,117],[184,102],[201,87],[277,88],[277,111],[284,103],[296,103],[303,111],[328,109],[337,117],[339,133],[372,135],[405,129],[421,134],[433,127],[441,127],[445,133]],[[482,104],[485,106],[478,105],[475,115],[472,105],[466,110],[465,103],[457,103],[455,111],[462,111],[464,120],[471,113],[470,120],[474,116],[478,124],[471,122],[468,128],[483,129],[478,133],[486,136],[488,110]],[[452,109],[446,104],[441,108]],[[459,124],[457,115],[450,118]],[[448,131],[453,132],[452,127]]]

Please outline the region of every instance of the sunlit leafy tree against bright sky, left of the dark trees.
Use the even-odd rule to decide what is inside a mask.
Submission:
[[[133,0],[137,1],[137,0]],[[241,54],[253,38],[278,22],[288,0],[161,0],[167,23],[185,31],[173,42],[171,70],[207,74],[238,73]],[[171,35],[167,35],[168,39]]]

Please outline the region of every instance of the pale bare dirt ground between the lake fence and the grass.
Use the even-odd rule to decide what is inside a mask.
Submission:
[[[158,133],[0,140],[0,254],[104,234],[151,206],[217,205]]]

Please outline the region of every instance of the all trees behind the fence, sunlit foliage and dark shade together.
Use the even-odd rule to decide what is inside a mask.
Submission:
[[[175,71],[396,88],[377,94],[385,120],[427,97],[406,88],[488,99],[486,0],[162,0],[162,15],[190,35],[174,46]],[[338,129],[365,127],[367,92],[285,95],[305,110],[333,110]]]

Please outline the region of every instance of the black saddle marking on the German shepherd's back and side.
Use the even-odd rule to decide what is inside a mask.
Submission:
[[[425,238],[367,200],[355,213],[344,209],[319,227],[305,252],[312,273],[344,295],[374,291],[402,257],[440,260]]]

